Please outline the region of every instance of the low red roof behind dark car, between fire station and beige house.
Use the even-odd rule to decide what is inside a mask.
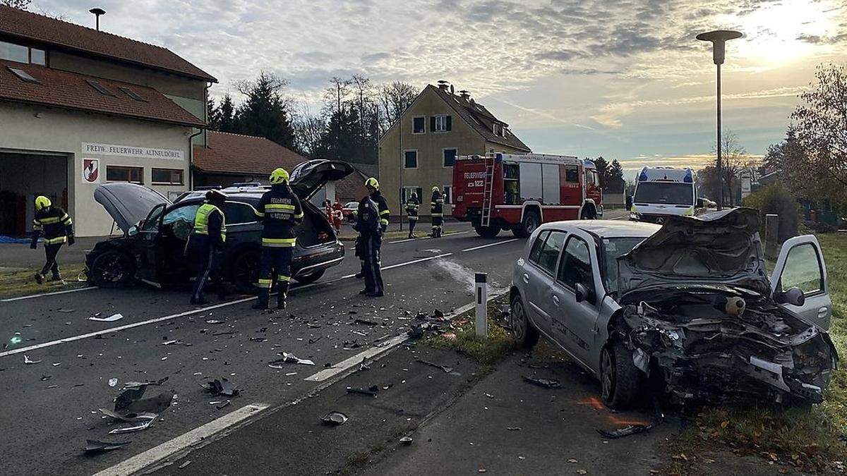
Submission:
[[[306,158],[264,137],[209,130],[206,147],[194,147],[194,166],[219,174],[270,174],[277,167],[289,172]]]

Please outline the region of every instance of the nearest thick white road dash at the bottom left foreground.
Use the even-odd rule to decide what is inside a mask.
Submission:
[[[214,434],[228,429],[237,423],[241,423],[246,418],[250,418],[257,412],[261,412],[268,407],[269,405],[267,403],[251,403],[234,412],[227,413],[221,418],[214,419],[201,427],[192,429],[185,434],[180,434],[180,436],[177,436],[173,440],[165,441],[159,446],[155,446],[123,462],[119,462],[112,468],[103,469],[94,476],[123,476],[125,474],[136,473],[143,468],[147,468],[147,466],[154,462],[173,455],[177,451],[185,450],[201,443],[203,440],[208,440]]]

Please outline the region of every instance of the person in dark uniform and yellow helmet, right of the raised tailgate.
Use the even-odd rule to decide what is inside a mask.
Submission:
[[[379,270],[379,249],[382,246],[382,234],[388,226],[388,206],[379,193],[379,182],[376,179],[368,179],[365,186],[369,193],[359,202],[355,225],[364,258],[365,289],[359,294],[379,297],[385,295],[382,272]]]

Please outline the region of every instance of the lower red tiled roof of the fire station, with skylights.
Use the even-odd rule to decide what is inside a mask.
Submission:
[[[20,80],[9,68],[21,69],[39,82]],[[86,80],[97,81],[112,91],[114,96],[103,95],[91,87]],[[144,102],[129,97],[124,91],[120,91],[119,87],[135,91],[144,99]],[[0,60],[0,101],[25,102],[194,127],[206,125],[194,114],[180,108],[175,102],[151,87],[103,80],[49,69],[37,64],[20,64],[12,61]]]

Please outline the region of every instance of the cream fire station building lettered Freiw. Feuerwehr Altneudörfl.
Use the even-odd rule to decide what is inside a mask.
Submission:
[[[166,48],[0,6],[0,235],[30,232],[38,195],[91,236],[112,225],[98,184],[189,190],[213,82]]]

